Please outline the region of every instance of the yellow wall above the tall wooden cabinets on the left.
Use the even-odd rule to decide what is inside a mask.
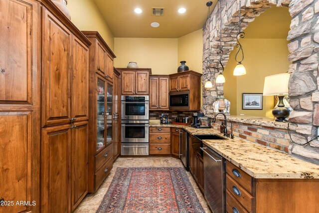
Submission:
[[[80,30],[98,31],[114,51],[114,35],[93,0],[68,0],[71,21]]]

